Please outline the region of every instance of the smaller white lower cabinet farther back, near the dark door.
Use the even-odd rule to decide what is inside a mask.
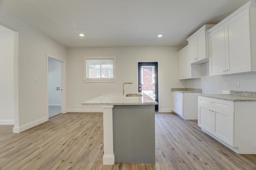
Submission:
[[[171,109],[183,119],[197,119],[197,98],[201,93],[171,92]]]

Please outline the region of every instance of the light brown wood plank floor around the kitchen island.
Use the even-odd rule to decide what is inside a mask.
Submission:
[[[66,113],[22,133],[0,125],[0,170],[256,170],[174,113],[156,113],[156,164],[102,165],[102,113]]]

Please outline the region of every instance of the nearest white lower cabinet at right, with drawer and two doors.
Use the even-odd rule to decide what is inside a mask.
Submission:
[[[256,154],[256,102],[198,96],[198,126],[239,154]]]

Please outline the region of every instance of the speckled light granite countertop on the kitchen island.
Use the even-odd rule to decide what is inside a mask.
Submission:
[[[133,93],[134,94],[134,93]],[[82,105],[156,105],[154,99],[150,98],[146,94],[142,94],[140,97],[127,97],[126,94],[121,93],[108,93],[97,98],[88,100]]]

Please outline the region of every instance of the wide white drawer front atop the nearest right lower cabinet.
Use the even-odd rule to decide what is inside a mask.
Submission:
[[[223,111],[234,112],[234,102],[228,100],[220,100],[208,97],[198,96],[198,105],[204,104]]]

